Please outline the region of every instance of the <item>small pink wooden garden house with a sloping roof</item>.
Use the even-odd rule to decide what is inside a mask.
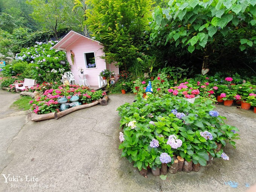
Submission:
[[[102,78],[99,77],[99,73],[108,69],[116,73],[115,81],[117,80],[117,75],[119,75],[119,68],[113,64],[107,64],[105,59],[101,57],[104,56],[103,52],[104,45],[99,41],[95,41],[89,37],[78,34],[74,31],[70,31],[65,37],[63,37],[53,49],[59,49],[66,51],[67,60],[70,63],[71,71],[74,73],[74,79],[76,84],[79,84],[79,80],[83,79],[79,69],[84,70],[85,79],[88,80],[90,86],[102,86]],[[71,52],[72,50],[72,52]],[[74,55],[73,63],[71,59],[71,54]]]

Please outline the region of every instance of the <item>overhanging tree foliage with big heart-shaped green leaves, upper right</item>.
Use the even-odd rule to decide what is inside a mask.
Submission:
[[[190,53],[221,41],[239,42],[244,50],[256,43],[255,4],[255,0],[170,0],[168,8],[155,8],[151,38],[157,45],[187,46]]]

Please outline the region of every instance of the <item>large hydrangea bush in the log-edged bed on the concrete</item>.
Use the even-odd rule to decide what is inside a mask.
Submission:
[[[235,147],[238,129],[226,125],[226,118],[212,104],[209,98],[201,97],[191,104],[172,94],[151,94],[147,100],[137,96],[136,102],[120,106],[122,157],[139,170],[160,168],[162,163],[170,166],[174,155],[202,166],[209,154],[228,160],[222,149],[217,151],[217,143],[225,146],[229,142]]]

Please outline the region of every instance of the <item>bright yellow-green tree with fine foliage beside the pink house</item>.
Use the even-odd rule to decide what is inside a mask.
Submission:
[[[105,59],[127,69],[130,59],[145,44],[150,0],[88,0],[85,24],[91,36],[104,43]]]

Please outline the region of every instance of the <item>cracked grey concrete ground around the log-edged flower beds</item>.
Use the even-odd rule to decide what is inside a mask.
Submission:
[[[256,179],[256,114],[217,105],[227,123],[237,126],[237,148],[224,148],[230,160],[214,159],[199,172],[178,172],[166,180],[139,175],[119,146],[116,108],[134,94],[113,94],[107,106],[82,109],[41,122],[10,108],[18,94],[0,90],[0,192],[240,192]],[[8,177],[9,175],[9,177]],[[5,179],[6,177],[6,179]]]

